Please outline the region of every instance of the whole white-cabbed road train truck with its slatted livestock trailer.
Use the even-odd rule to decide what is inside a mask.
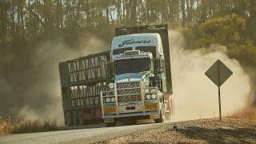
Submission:
[[[168,26],[116,28],[110,47],[59,63],[65,124],[170,119]]]

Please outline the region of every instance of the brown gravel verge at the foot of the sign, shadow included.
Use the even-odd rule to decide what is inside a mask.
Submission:
[[[231,118],[165,123],[100,143],[256,143],[256,123]]]

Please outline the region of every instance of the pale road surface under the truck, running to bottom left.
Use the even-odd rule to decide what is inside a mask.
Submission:
[[[85,128],[80,130],[59,130],[28,134],[10,134],[0,136],[0,144],[14,143],[94,143],[118,138],[124,135],[133,134],[136,131],[151,130],[155,125],[162,124],[143,124],[134,126],[114,126],[101,128]],[[72,127],[72,129],[74,129]]]

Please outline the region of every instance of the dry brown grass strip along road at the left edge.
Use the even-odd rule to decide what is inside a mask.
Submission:
[[[2,134],[18,134],[18,133],[32,133],[56,130],[56,121],[39,121],[30,120],[25,118],[19,118],[16,121],[12,121],[9,118],[0,119],[0,135]]]

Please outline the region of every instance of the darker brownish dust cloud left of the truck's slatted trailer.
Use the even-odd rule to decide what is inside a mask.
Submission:
[[[3,98],[0,115],[56,119],[59,126],[64,124],[58,62],[98,53],[106,48],[104,42],[95,37],[81,38],[78,47],[64,43],[62,40],[39,43],[29,60],[29,68],[24,68],[19,75],[12,75],[13,84],[8,83],[7,78],[0,78],[0,95]]]

